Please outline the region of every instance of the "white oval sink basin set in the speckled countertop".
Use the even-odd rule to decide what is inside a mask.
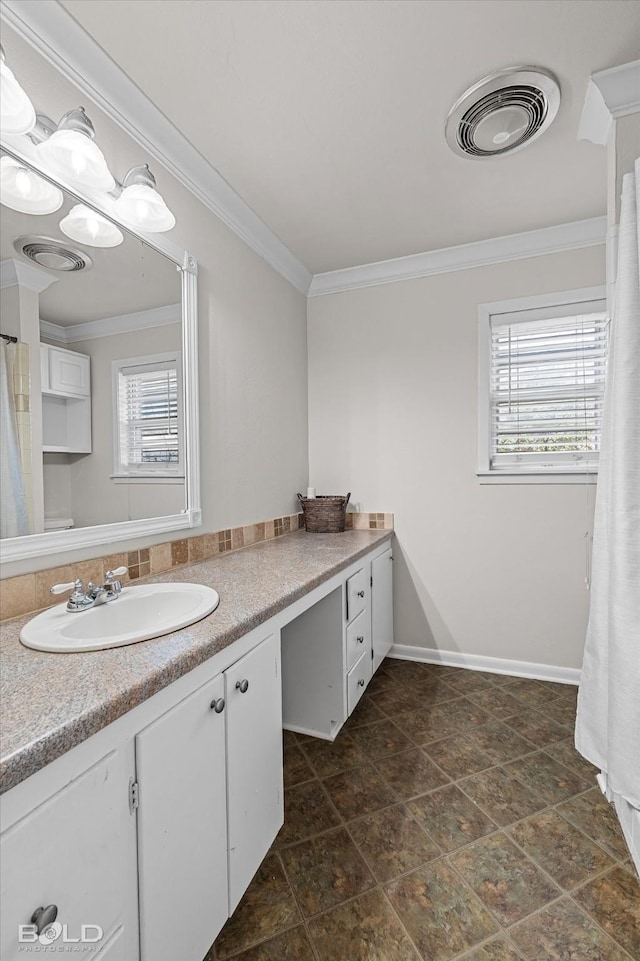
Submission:
[[[20,640],[36,651],[103,651],[148,641],[201,620],[214,611],[218,592],[202,584],[125,587],[120,597],[70,613],[59,604],[22,628]]]

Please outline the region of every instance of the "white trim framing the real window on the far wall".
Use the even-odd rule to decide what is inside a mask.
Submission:
[[[491,467],[491,318],[499,314],[520,313],[527,310],[572,307],[576,304],[601,301],[606,310],[606,287],[582,287],[576,290],[518,297],[478,305],[478,428],[476,475],[480,484],[584,484],[596,483],[597,468],[580,467],[563,470],[532,465],[529,469],[509,471]],[[568,313],[567,316],[570,316]],[[525,318],[523,318],[524,320]]]

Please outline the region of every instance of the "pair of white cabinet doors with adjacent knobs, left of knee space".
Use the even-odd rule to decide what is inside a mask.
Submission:
[[[271,634],[136,736],[142,961],[201,959],[283,821]]]

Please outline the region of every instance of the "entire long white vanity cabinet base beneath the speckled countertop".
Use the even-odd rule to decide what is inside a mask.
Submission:
[[[202,961],[283,823],[283,726],[333,739],[392,641],[390,555],[379,544],[2,796],[2,961],[50,950],[31,928],[19,940],[50,905],[69,953],[84,930],[96,961]]]

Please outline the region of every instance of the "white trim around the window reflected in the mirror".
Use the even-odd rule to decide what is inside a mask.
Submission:
[[[152,364],[175,364],[177,373],[178,398],[178,463],[173,469],[163,465],[154,468],[122,470],[120,457],[120,404],[119,376],[127,367],[145,367]],[[138,357],[123,357],[111,362],[111,439],[112,472],[109,475],[115,483],[183,484],[185,480],[185,442],[184,442],[184,394],[182,389],[182,352],[165,351],[160,354],[144,354]]]

